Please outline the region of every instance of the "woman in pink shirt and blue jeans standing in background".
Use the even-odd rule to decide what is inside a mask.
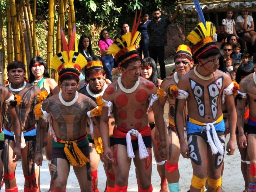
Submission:
[[[108,30],[102,29],[100,32],[99,47],[101,52],[101,62],[103,68],[106,71],[106,78],[113,82],[112,79],[112,70],[114,67],[114,59],[112,55],[107,54],[108,47],[113,43],[111,39],[108,39]]]

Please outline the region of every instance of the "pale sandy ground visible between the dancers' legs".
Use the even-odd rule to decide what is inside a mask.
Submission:
[[[174,68],[174,65],[172,63],[173,63],[173,60],[166,62],[167,64],[166,76],[168,76],[172,71],[172,69]],[[158,72],[160,72],[159,66],[158,66]],[[117,76],[118,74],[115,74],[114,78],[116,78]],[[165,108],[164,108],[164,114],[165,114],[165,118],[168,119],[167,104],[165,105]],[[228,139],[229,139],[229,135],[226,138],[226,144],[228,142]],[[151,181],[152,181],[153,191],[158,192],[160,190],[160,177],[156,170],[156,161],[154,158],[152,158],[152,160],[153,160],[152,162],[153,165],[152,165]],[[240,164],[241,164],[241,159],[240,159],[240,154],[236,144],[235,154],[233,156],[225,155],[225,168],[224,168],[224,174],[222,177],[222,182],[223,182],[222,186],[226,192],[230,192],[230,191],[242,192],[244,190],[244,179],[241,173]],[[179,170],[180,170],[180,182],[179,182],[180,189],[182,192],[186,192],[189,190],[193,172],[192,172],[190,160],[184,159],[181,155],[179,160]],[[99,178],[99,182],[98,182],[99,191],[103,192],[106,185],[106,175],[105,175],[102,163],[99,164],[98,178]],[[19,161],[17,164],[16,179],[17,179],[17,185],[19,190],[23,191],[24,176],[22,173],[21,161]],[[46,158],[44,156],[43,166],[41,167],[41,177],[40,177],[41,191],[47,192],[49,189],[49,186],[50,186],[50,173],[49,173]],[[72,167],[70,169],[66,190],[67,192],[80,191],[78,181],[76,179],[76,175]],[[135,167],[134,167],[133,161],[132,161],[131,169],[129,173],[128,191],[130,192],[138,191],[137,181],[135,176]]]

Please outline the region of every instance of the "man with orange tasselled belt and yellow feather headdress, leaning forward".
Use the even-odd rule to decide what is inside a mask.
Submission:
[[[86,123],[88,111],[94,109],[96,113],[97,105],[89,97],[77,92],[80,71],[86,64],[84,56],[78,52],[68,50],[56,54],[52,58],[51,66],[59,73],[62,91],[35,108],[35,114],[49,123],[49,131],[53,137],[51,174],[54,192],[66,191],[70,165],[73,166],[81,191],[92,191]],[[92,118],[99,127],[99,120]],[[39,119],[39,128],[36,133],[35,162],[42,165],[42,142],[46,128],[42,118]]]

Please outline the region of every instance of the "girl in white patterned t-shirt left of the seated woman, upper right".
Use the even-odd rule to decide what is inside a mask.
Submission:
[[[241,53],[243,53],[244,52],[244,40],[236,35],[236,27],[235,27],[236,23],[235,23],[235,20],[232,19],[232,16],[233,16],[232,11],[226,12],[226,19],[222,20],[223,33],[225,33],[227,35],[234,34],[234,36],[236,37],[236,40],[241,45]]]

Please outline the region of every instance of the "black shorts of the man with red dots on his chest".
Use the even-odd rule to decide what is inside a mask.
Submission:
[[[146,136],[146,137],[142,137],[142,139],[143,139],[143,142],[144,142],[146,148],[152,148],[151,135]],[[125,146],[127,146],[126,138],[113,138],[113,146],[114,145],[125,145]],[[132,149],[133,149],[133,151],[136,151],[136,150],[139,149],[138,139],[132,141]]]

